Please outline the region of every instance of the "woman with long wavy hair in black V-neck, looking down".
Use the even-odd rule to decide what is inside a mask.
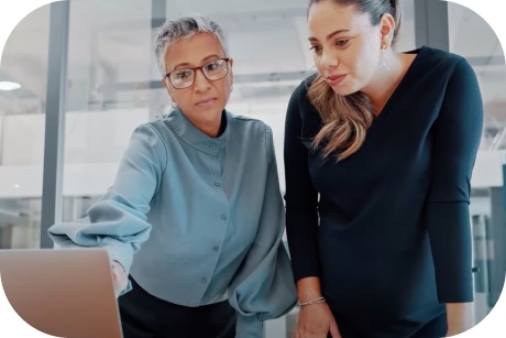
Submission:
[[[318,73],[285,129],[302,337],[441,337],[472,326],[470,179],[483,105],[461,56],[394,51],[395,0],[311,0]]]

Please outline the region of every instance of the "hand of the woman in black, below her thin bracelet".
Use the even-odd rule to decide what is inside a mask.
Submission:
[[[312,304],[300,308],[294,338],[342,338],[338,325],[326,303]]]

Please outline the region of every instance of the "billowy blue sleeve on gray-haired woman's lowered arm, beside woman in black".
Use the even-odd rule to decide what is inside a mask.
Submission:
[[[263,321],[289,312],[297,299],[289,258],[282,242],[285,208],[279,192],[271,129],[266,129],[268,173],[258,230],[229,287],[238,313],[237,337],[263,337]]]

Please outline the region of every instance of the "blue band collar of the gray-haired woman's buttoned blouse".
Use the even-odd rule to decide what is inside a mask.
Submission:
[[[170,129],[174,130],[183,141],[209,155],[218,155],[220,150],[227,145],[230,138],[230,128],[232,127],[231,115],[227,110],[222,112],[222,123],[227,124],[222,134],[218,138],[210,138],[198,130],[180,109],[170,111],[167,121]]]

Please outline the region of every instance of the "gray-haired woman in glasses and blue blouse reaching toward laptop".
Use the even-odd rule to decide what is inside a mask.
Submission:
[[[233,61],[216,22],[167,21],[155,45],[175,108],[136,128],[87,219],[50,235],[108,250],[125,338],[262,337],[296,303],[272,130],[224,109]]]

